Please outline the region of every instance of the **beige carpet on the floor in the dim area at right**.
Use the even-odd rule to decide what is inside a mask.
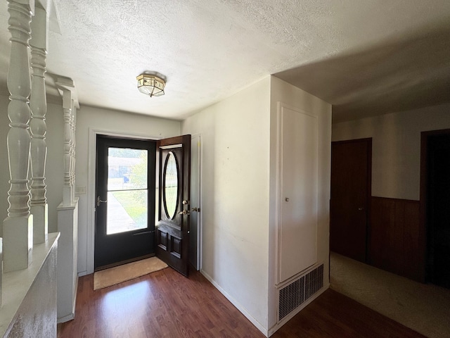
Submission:
[[[330,253],[330,287],[426,337],[450,337],[450,289]]]

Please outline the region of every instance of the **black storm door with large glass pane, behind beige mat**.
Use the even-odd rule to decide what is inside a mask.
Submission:
[[[156,142],[98,135],[95,268],[155,253]]]

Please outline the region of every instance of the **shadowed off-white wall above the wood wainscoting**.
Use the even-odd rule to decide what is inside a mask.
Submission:
[[[333,125],[333,141],[372,137],[372,196],[420,199],[420,132],[450,128],[450,104]]]

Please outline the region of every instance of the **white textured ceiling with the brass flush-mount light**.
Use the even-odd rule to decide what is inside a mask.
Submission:
[[[335,121],[450,101],[449,0],[54,2],[47,70],[72,77],[81,105],[182,119],[269,74],[333,104]],[[167,77],[165,96],[136,89],[144,71]]]

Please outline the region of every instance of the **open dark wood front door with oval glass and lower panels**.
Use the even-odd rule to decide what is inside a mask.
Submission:
[[[159,172],[156,256],[188,275],[191,189],[191,135],[157,144]]]

